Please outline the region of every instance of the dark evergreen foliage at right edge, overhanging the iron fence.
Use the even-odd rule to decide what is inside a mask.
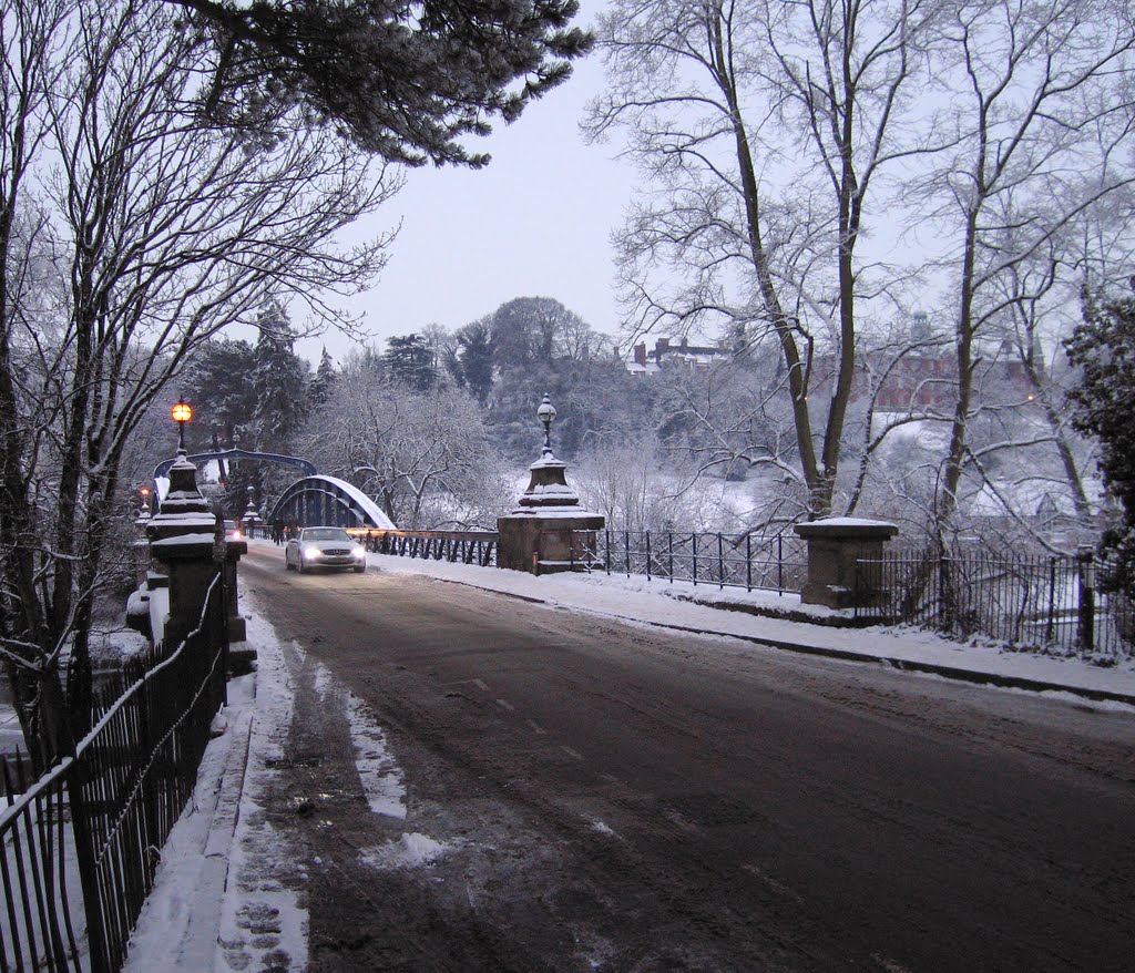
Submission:
[[[1123,522],[1103,535],[1101,553],[1112,567],[1102,584],[1135,597],[1135,295],[1086,302],[1084,320],[1065,346],[1083,371],[1068,396],[1075,425],[1100,441],[1104,487],[1123,506]]]

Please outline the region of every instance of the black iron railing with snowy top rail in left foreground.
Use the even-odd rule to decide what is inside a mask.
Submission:
[[[100,689],[74,756],[35,781],[5,766],[0,971],[121,966],[225,703],[221,586],[179,646]]]

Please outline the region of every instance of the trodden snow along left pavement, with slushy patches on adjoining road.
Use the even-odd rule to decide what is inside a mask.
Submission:
[[[229,683],[229,705],[219,718],[224,732],[208,747],[197,786],[162,849],[154,889],[131,941],[125,965],[151,971],[302,971],[308,966],[308,914],[300,896],[302,863],[266,820],[262,799],[274,766],[285,757],[294,687],[288,655],[264,613],[241,594],[247,641],[257,649],[257,672]],[[314,688],[329,701],[342,691],[330,671],[314,666]],[[355,766],[376,814],[406,817],[402,769],[392,756],[373,713],[344,694]],[[376,867],[428,864],[447,846],[424,834],[403,834],[364,849]]]

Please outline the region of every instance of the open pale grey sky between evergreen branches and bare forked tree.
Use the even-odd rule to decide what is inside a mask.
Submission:
[[[589,24],[602,2],[583,3]],[[403,220],[378,284],[346,303],[365,316],[376,343],[437,322],[453,329],[521,296],[555,297],[602,332],[617,327],[611,232],[630,202],[633,170],[619,145],[588,145],[579,120],[603,85],[596,54],[571,79],[496,126],[470,148],[493,154],[480,171],[415,169],[376,217]],[[303,342],[313,363],[321,344],[336,359],[342,335]]]

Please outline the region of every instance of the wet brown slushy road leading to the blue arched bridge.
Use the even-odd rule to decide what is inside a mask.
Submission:
[[[210,929],[218,970],[1126,955],[1129,707],[628,627],[603,614],[640,610],[633,593],[585,585],[581,614],[413,567],[301,578],[253,546],[226,891],[195,932],[173,925],[194,879],[169,852],[133,968],[209,968]]]

